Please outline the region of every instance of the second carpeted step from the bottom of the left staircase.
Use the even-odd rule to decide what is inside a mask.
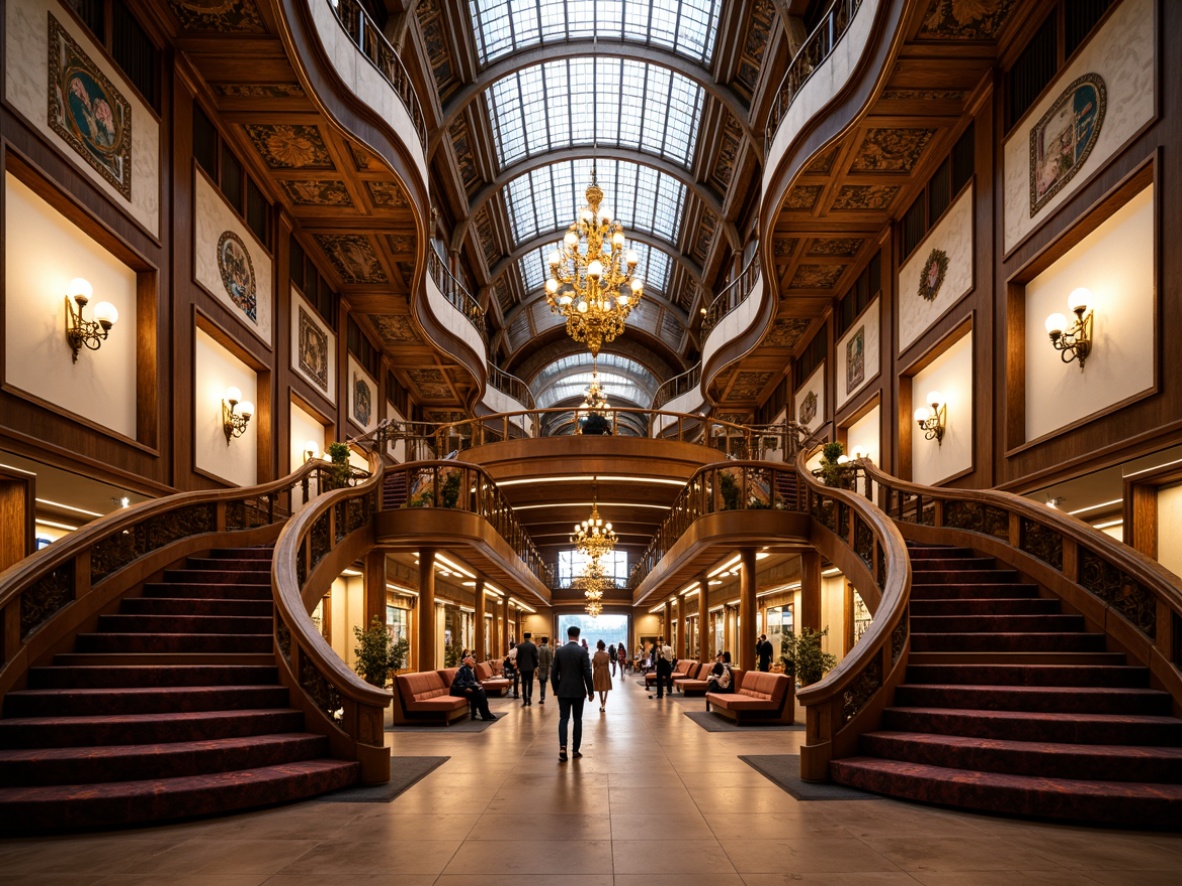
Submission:
[[[0,750],[0,784],[100,784],[184,777],[326,756],[329,740],[310,732],[102,748]]]

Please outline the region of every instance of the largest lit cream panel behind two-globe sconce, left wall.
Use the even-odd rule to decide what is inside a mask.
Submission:
[[[118,321],[71,359],[66,288],[82,276]],[[136,272],[12,174],[5,174],[5,382],[116,434],[136,437]],[[72,304],[72,302],[71,302]]]

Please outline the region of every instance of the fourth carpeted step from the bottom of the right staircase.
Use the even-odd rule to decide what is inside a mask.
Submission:
[[[960,708],[1056,714],[1136,714],[1167,716],[1169,692],[1130,686],[914,685],[895,690],[900,708]]]

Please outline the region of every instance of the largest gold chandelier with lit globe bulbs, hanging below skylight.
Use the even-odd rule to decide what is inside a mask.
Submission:
[[[561,246],[550,254],[546,304],[551,313],[566,318],[566,334],[598,357],[604,343],[624,331],[624,320],[644,294],[644,281],[632,274],[638,258],[624,249],[624,226],[600,209],[603,189],[593,164],[586,200]]]

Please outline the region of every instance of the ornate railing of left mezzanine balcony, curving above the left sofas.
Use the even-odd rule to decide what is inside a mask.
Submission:
[[[483,519],[513,548],[518,558],[550,587],[553,573],[543,561],[530,534],[521,527],[505,494],[483,468],[456,461],[409,462],[388,468],[392,480],[402,475],[407,491],[402,508],[453,508]],[[395,481],[397,482],[397,481]]]

